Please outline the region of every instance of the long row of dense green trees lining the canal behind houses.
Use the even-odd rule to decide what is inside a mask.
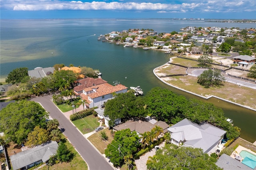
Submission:
[[[142,118],[145,115],[150,115],[156,120],[164,121],[170,125],[187,118],[197,124],[210,123],[222,128],[227,131],[226,137],[229,139],[237,138],[240,135],[240,132],[226,121],[227,118],[222,109],[215,107],[212,103],[186,99],[184,96],[176,95],[167,89],[155,87],[145,97],[136,98],[140,101],[138,106],[138,103],[134,102],[134,95],[129,93],[131,92],[119,93],[114,99],[106,102],[105,116],[112,120],[120,118],[122,121],[126,121],[131,117]],[[136,111],[136,108],[140,112]]]

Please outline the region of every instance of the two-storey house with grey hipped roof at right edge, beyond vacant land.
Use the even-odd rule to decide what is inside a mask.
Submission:
[[[250,68],[256,63],[256,58],[249,55],[238,55],[232,58],[234,64],[238,64],[240,67]]]

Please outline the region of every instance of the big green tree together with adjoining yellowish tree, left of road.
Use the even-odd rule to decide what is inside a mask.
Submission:
[[[36,146],[49,140],[60,141],[57,119],[46,121],[48,113],[34,101],[22,100],[1,110],[0,131],[6,142]]]

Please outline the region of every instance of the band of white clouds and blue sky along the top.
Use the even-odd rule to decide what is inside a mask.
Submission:
[[[243,12],[256,11],[255,0],[181,0],[178,4],[162,4],[161,1],[143,2],[121,0],[118,2],[79,0],[1,0],[0,8],[9,10],[119,10],[119,11],[156,11],[158,13],[174,12]],[[167,2],[167,1],[165,1]],[[171,2],[171,1],[170,1]],[[183,2],[183,3],[182,3]],[[191,2],[191,3],[190,3]]]

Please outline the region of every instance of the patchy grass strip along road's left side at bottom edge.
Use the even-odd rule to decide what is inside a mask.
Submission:
[[[76,152],[74,147],[66,140],[65,136],[62,134],[62,142],[66,144],[68,149],[74,154],[74,158],[70,162],[58,163],[53,166],[44,166],[40,170],[88,170],[86,162],[82,157]]]

